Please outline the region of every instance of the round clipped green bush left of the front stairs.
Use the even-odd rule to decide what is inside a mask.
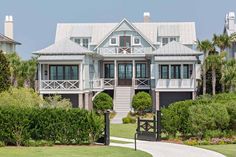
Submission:
[[[112,109],[112,97],[104,92],[99,93],[93,100],[93,107],[97,111],[105,111],[108,109]]]

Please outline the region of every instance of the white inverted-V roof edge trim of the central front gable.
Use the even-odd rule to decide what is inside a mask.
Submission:
[[[134,31],[136,31],[142,38],[144,38],[144,40],[147,41],[147,43],[153,48],[156,49],[153,44],[151,43],[151,41],[149,41],[149,39],[147,37],[145,37],[145,35],[142,34],[142,32],[140,32],[132,23],[130,23],[127,19],[123,19],[116,27],[114,27],[112,29],[112,31],[110,31],[95,47],[95,49],[97,49],[114,31],[116,31],[123,23],[127,23],[131,28],[134,29]]]

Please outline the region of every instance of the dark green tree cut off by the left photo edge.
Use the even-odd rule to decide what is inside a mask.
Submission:
[[[0,92],[10,88],[10,67],[6,56],[0,50]]]

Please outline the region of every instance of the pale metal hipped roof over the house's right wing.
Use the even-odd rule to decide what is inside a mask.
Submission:
[[[188,56],[188,55],[202,55],[201,52],[194,51],[179,42],[172,41],[165,46],[153,52],[154,55],[160,56]]]

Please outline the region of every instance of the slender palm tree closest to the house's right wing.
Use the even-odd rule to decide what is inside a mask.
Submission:
[[[207,71],[205,61],[209,55],[209,52],[214,50],[214,46],[212,42],[209,40],[203,40],[203,41],[197,40],[196,43],[197,43],[197,49],[204,53],[203,65],[202,65],[202,76],[203,76],[203,92],[202,93],[203,95],[205,95],[206,94],[206,71]]]

